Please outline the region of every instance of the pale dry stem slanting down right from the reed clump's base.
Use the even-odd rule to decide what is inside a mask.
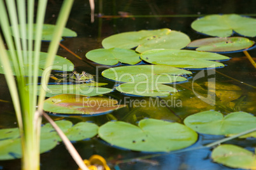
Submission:
[[[69,154],[73,157],[73,159],[75,160],[76,164],[78,164],[78,166],[83,169],[83,170],[89,170],[87,166],[85,166],[85,163],[83,162],[83,159],[80,157],[80,155],[78,154],[78,152],[76,151],[75,147],[72,145],[72,143],[69,141],[69,139],[67,138],[67,136],[61,131],[61,129],[59,128],[59,126],[57,126],[57,124],[50,118],[50,116],[48,116],[45,112],[43,112],[43,117],[45,117],[45,119],[52,124],[53,128],[55,129],[55,131],[57,131],[57,133],[59,134],[60,138],[62,139],[63,143],[65,143],[66,148],[69,152]]]

